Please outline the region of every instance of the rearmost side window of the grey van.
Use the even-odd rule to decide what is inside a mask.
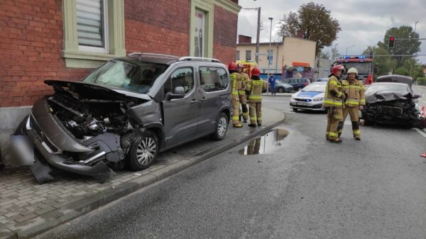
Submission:
[[[200,67],[201,88],[206,92],[222,91],[228,87],[226,70],[219,67]]]

